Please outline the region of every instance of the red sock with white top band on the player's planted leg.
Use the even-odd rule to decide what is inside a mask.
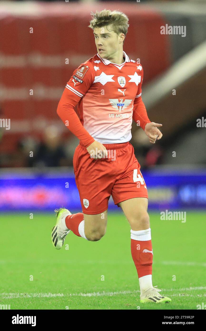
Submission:
[[[131,230],[131,253],[137,269],[138,277],[140,278],[146,275],[151,275],[153,253],[150,228],[141,231]]]

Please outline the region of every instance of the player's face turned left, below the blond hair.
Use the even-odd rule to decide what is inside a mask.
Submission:
[[[98,54],[102,58],[110,60],[113,58],[114,54],[122,50],[124,33],[117,35],[112,30],[111,25],[95,27],[94,35]]]

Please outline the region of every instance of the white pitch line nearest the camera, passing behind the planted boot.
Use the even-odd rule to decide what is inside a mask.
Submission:
[[[180,289],[162,289],[162,292],[168,291],[194,291],[194,290],[206,290],[206,286],[199,287],[186,287]],[[101,297],[101,296],[114,296],[119,294],[139,294],[140,291],[118,291],[118,292],[93,292],[93,293],[0,293],[0,297],[2,299],[17,299],[17,298],[54,298],[54,297],[69,297],[69,296],[77,296],[77,297]],[[171,296],[202,296],[202,294],[172,294]],[[206,294],[203,294],[206,296]]]

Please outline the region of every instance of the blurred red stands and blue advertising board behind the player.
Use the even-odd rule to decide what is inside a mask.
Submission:
[[[0,2],[0,118],[11,120],[0,127],[0,211],[81,210],[78,140],[56,110],[73,70],[97,53],[87,26],[104,8],[128,15],[124,50],[140,59],[148,116],[163,124],[155,146],[132,128],[149,209],[206,208],[206,2],[69,0]],[[166,24],[186,26],[186,36],[160,34]],[[109,208],[118,212],[112,199]]]

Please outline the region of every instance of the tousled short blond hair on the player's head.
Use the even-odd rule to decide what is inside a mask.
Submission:
[[[124,33],[126,37],[129,27],[129,19],[124,13],[118,10],[111,11],[104,9],[101,12],[97,10],[95,14],[91,13],[91,15],[92,20],[90,21],[89,27],[93,30],[95,27],[102,27],[111,24],[115,33]]]

